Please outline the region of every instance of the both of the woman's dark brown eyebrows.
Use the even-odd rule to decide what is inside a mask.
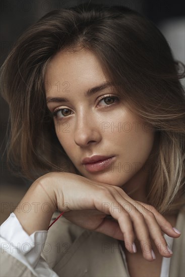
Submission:
[[[89,89],[86,93],[85,96],[91,96],[101,90],[104,90],[106,88],[109,88],[112,85],[111,82],[103,82],[102,84],[93,87],[91,89]],[[50,102],[68,102],[69,100],[65,97],[47,97],[46,98],[46,103],[50,103]]]

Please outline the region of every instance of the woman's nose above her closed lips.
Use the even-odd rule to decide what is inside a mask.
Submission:
[[[87,147],[101,141],[101,127],[96,120],[89,116],[77,119],[74,141],[80,147]]]

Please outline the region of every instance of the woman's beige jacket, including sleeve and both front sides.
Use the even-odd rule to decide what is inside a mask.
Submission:
[[[54,213],[53,221],[59,213]],[[184,277],[185,209],[178,215],[176,229],[181,236],[173,241],[169,277]],[[130,276],[122,259],[118,241],[80,228],[60,217],[48,230],[46,251],[41,256],[61,277]],[[44,248],[45,249],[45,248]],[[49,251],[48,251],[49,249]],[[4,251],[1,276],[34,276],[24,264]]]

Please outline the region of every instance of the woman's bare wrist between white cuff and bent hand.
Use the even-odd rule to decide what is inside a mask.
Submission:
[[[14,214],[23,229],[31,235],[35,231],[48,230],[51,217],[56,210],[53,185],[51,186],[42,176],[30,186]]]

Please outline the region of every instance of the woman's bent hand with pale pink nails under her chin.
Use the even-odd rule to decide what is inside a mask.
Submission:
[[[148,261],[153,260],[150,238],[162,256],[172,255],[162,231],[174,238],[179,234],[153,206],[133,200],[120,187],[73,173],[53,172],[43,180],[49,186],[54,184],[57,209],[65,211],[63,216],[76,225],[124,240],[131,253],[135,252],[137,238]]]

